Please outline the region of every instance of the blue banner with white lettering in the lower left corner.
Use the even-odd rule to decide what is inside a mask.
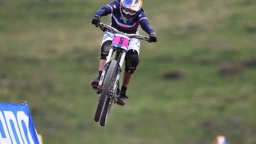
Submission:
[[[0,103],[0,144],[39,144],[28,104]]]

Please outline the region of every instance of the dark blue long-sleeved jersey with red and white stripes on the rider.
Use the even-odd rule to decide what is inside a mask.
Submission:
[[[136,15],[127,20],[121,15],[120,0],[114,1],[111,4],[99,9],[95,16],[102,17],[111,14],[111,27],[116,28],[119,31],[127,34],[139,34],[139,26],[142,27],[146,33],[154,33],[154,30],[150,27],[146,15],[141,8]]]

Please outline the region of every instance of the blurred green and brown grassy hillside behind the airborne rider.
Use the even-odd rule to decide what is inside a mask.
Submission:
[[[44,143],[256,142],[255,0],[143,1],[159,41],[142,41],[128,103],[101,127],[91,19],[110,2],[0,0],[1,103],[27,101]]]

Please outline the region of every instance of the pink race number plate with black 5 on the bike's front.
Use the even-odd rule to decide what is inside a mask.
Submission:
[[[127,50],[130,43],[130,38],[123,34],[116,34],[112,42],[113,47],[120,47],[121,49]]]

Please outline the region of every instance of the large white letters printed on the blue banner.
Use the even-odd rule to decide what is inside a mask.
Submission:
[[[28,126],[28,116],[24,113],[24,111],[18,111],[17,112],[17,119],[14,116],[14,113],[12,111],[4,111],[4,115],[0,111],[0,122],[2,123],[2,126],[4,128],[4,134],[5,137],[0,132],[0,143],[13,143],[13,144],[27,144],[27,138],[25,137],[25,132],[23,129],[22,122],[25,123],[25,127],[27,128],[27,137],[31,144],[34,144],[34,140],[31,136],[30,129]],[[11,126],[11,121],[14,127]],[[1,127],[0,123],[0,127]],[[18,137],[18,139],[15,139],[15,135]],[[17,142],[18,140],[18,142]]]

